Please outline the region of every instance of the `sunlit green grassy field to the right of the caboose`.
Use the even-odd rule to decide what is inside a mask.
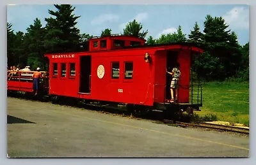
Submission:
[[[249,126],[249,83],[209,82],[203,85],[200,117],[216,116],[217,120]]]

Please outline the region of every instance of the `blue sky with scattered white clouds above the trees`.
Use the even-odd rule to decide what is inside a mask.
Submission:
[[[240,4],[159,4],[159,5],[121,5],[121,4],[74,4],[77,27],[81,33],[99,36],[101,31],[110,28],[113,33],[123,32],[127,22],[136,19],[148,30],[148,36],[158,38],[161,34],[175,32],[181,25],[188,34],[198,22],[200,31],[204,30],[207,14],[223,17],[231,31],[236,32],[238,41],[244,45],[249,41],[249,6]],[[10,5],[7,8],[7,21],[12,23],[15,32],[26,32],[26,28],[39,18],[45,26],[44,18],[51,15],[48,10],[56,10],[53,5]]]

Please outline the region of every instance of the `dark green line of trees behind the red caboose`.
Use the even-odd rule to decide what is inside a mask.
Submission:
[[[26,32],[13,32],[12,24],[7,22],[7,57],[8,66],[31,66],[31,69],[40,67],[47,70],[48,61],[44,54],[52,52],[75,52],[88,50],[90,34],[81,34],[76,27],[76,9],[70,4],[54,4],[56,11],[48,10],[52,16],[45,18],[46,25],[35,18]],[[104,29],[102,37],[110,36],[111,29]],[[143,31],[143,25],[136,20],[129,22],[122,35],[145,38],[148,34]],[[204,21],[204,30],[200,31],[197,22],[188,38],[182,32],[182,27],[177,27],[177,32],[162,34],[154,39],[147,38],[147,45],[189,42],[204,49],[204,54],[196,56],[193,71],[204,80],[249,80],[249,42],[239,45],[237,35],[228,29],[225,20],[221,17],[207,15]]]

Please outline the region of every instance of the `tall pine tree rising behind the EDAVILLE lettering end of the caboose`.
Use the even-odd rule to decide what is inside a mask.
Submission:
[[[45,47],[51,51],[66,52],[76,50],[79,45],[79,29],[76,27],[76,17],[72,12],[75,7],[70,4],[54,4],[57,11],[49,10],[55,18],[45,18]]]

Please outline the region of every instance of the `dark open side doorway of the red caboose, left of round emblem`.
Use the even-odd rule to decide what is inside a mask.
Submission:
[[[92,75],[92,56],[86,55],[80,57],[80,87],[79,92],[91,92],[91,75]]]

